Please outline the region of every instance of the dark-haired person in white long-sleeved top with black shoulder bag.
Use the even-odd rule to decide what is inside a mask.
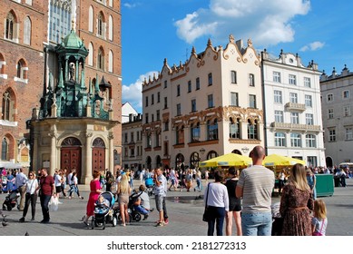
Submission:
[[[210,182],[205,188],[204,203],[210,210],[211,218],[208,220],[207,235],[213,236],[214,226],[216,225],[217,236],[223,235],[223,223],[229,209],[229,197],[227,187],[222,184],[224,174],[221,171],[214,172],[214,182]],[[206,200],[207,196],[207,200]]]

